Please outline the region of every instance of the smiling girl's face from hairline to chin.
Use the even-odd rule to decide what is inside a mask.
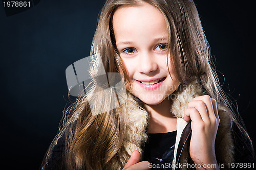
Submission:
[[[147,3],[120,7],[113,15],[113,28],[131,82],[126,89],[148,105],[161,103],[180,84],[172,64],[167,66],[169,36],[163,14]]]

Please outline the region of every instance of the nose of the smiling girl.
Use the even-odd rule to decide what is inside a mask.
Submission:
[[[154,54],[142,53],[140,56],[140,63],[138,70],[141,74],[150,74],[158,69],[157,61]]]

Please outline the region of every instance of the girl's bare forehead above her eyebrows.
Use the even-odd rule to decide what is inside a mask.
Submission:
[[[132,35],[153,38],[168,34],[162,12],[144,2],[138,6],[119,7],[113,15],[113,28],[116,38]]]

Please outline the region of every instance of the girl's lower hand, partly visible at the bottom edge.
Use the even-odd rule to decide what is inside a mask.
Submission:
[[[134,151],[131,158],[127,161],[125,164],[123,170],[148,170],[150,169],[148,167],[148,164],[150,162],[148,161],[140,161],[140,152],[139,151]]]

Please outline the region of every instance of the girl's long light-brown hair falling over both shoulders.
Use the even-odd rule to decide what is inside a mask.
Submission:
[[[107,0],[102,8],[98,26],[93,38],[91,55],[95,62],[100,59],[103,67],[96,64],[91,68],[92,77],[97,77],[98,71],[119,72],[124,75],[125,83],[129,83],[127,72],[124,69],[115,44],[115,35],[112,26],[112,17],[116,9],[121,6],[138,6],[146,2],[159,9],[166,21],[169,31],[169,52],[174,63],[174,70],[179,82],[187,84],[198,79],[204,90],[211,98],[227,106],[228,100],[221,90],[215,70],[211,67],[209,45],[205,38],[196,6],[192,0]],[[65,164],[66,169],[111,169],[114,160],[127,161],[130,155],[125,151],[122,141],[126,130],[120,107],[106,109],[111,105],[109,98],[114,88],[102,90],[103,86],[97,79],[93,79],[93,86],[83,98],[79,98],[65,112],[64,123],[58,135],[53,140],[46,159],[58,138],[66,133]],[[97,89],[97,95],[92,91]],[[90,107],[89,103],[94,103]],[[101,113],[103,110],[103,113]],[[101,113],[101,114],[92,114]],[[126,153],[121,155],[120,153]],[[121,161],[120,161],[121,162]],[[120,163],[120,167],[124,165]]]

